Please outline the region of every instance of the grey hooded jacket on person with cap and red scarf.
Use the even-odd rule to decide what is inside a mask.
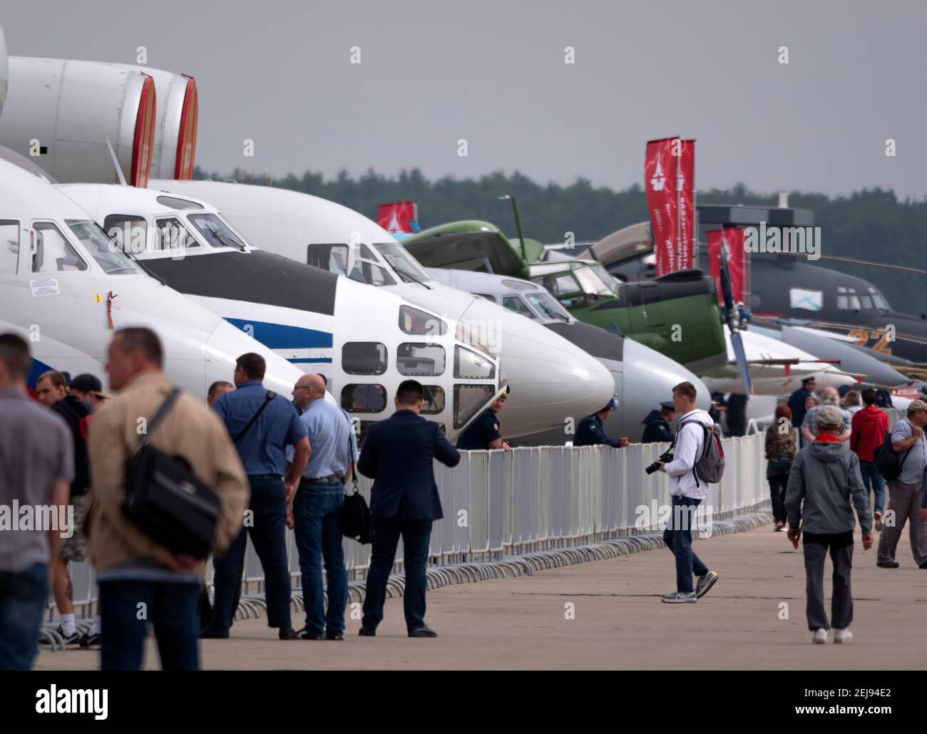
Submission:
[[[798,452],[785,490],[789,527],[801,523],[802,530],[814,534],[852,530],[856,522],[850,500],[863,533],[870,533],[869,492],[859,475],[857,455],[844,442],[814,441]]]

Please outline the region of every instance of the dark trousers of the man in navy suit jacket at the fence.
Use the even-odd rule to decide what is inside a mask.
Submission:
[[[387,581],[396,560],[400,535],[406,569],[405,595],[402,597],[406,628],[412,632],[425,626],[425,568],[431,523],[431,520],[400,520],[398,517],[374,518],[374,546],[367,572],[367,595],[363,600],[362,625],[367,629],[375,629],[383,621]]]

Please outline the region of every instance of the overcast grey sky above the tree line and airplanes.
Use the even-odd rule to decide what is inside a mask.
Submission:
[[[195,76],[208,170],[624,188],[648,138],[679,134],[700,189],[927,195],[921,0],[30,0],[0,24],[11,55],[134,63],[145,45]]]

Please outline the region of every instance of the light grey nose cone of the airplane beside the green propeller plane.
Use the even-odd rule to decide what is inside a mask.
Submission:
[[[620,435],[629,437],[631,441],[639,440],[643,431],[641,421],[650,411],[659,410],[661,402],[672,400],[673,387],[680,382],[691,382],[695,386],[695,405],[707,411],[711,406],[711,395],[702,380],[679,362],[626,339],[620,411],[615,411],[610,419],[621,419]],[[612,435],[616,433],[618,431]]]

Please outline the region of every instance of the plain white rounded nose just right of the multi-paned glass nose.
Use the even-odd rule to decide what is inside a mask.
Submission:
[[[502,413],[505,437],[526,436],[601,410],[615,392],[603,364],[540,323],[476,299],[461,319],[498,351],[512,394]],[[495,343],[493,343],[495,342]]]

